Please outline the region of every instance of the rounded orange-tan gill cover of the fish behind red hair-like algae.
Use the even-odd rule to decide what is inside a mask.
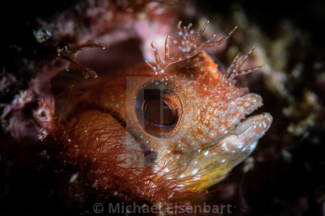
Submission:
[[[74,131],[74,143],[88,160],[110,157],[114,159],[110,161],[124,161],[123,166],[131,167],[138,167],[144,160],[139,158],[140,153],[137,154],[142,151],[138,142],[110,113],[87,110],[79,115],[79,119]]]

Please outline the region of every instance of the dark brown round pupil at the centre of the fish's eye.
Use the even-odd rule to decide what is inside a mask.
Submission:
[[[172,110],[160,99],[149,101],[146,114],[149,121],[157,125],[168,125],[173,119]]]

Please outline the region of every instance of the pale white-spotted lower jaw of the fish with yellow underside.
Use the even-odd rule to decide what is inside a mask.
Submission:
[[[258,140],[269,129],[272,120],[269,113],[245,119],[230,135],[201,149],[180,176],[196,175],[196,178],[188,182],[192,184],[200,181],[201,184],[196,189],[207,188],[219,182],[254,151]]]

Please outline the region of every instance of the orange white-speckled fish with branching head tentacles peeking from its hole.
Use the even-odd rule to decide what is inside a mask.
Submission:
[[[220,71],[204,50],[235,29],[217,42],[195,42],[207,24],[194,33],[179,22],[180,41],[166,38],[163,59],[151,41],[156,63],[101,77],[71,105],[79,111],[68,115],[66,159],[80,168],[70,184],[87,181],[105,197],[162,210],[214,185],[253,152],[272,116],[246,118],[262,97],[235,78],[263,65],[240,70],[255,46]],[[170,56],[170,42],[179,55]]]

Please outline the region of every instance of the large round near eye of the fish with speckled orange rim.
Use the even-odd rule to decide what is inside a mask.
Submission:
[[[151,80],[136,95],[135,110],[144,130],[159,138],[186,132],[193,116],[193,103],[173,81]]]

